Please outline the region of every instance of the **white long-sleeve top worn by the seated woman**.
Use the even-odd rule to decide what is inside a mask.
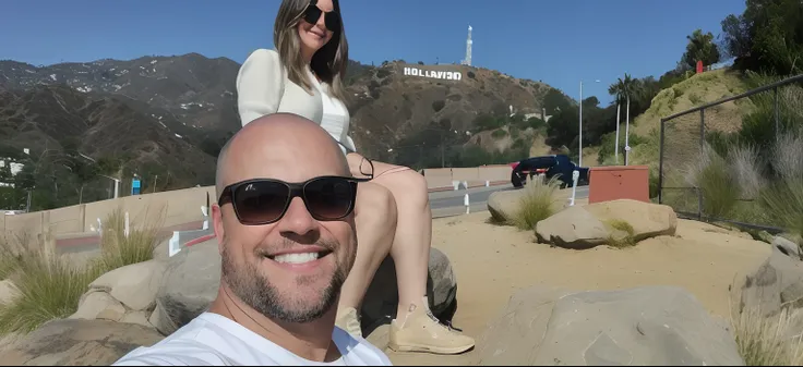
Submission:
[[[332,96],[329,86],[321,84],[311,70],[307,69],[307,74],[312,95],[287,77],[276,50],[253,51],[237,74],[237,107],[242,125],[265,114],[295,113],[319,123],[343,147],[357,151],[348,136],[351,117],[346,105]]]

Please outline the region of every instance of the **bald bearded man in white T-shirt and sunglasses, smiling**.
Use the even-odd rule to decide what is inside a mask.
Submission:
[[[357,183],[337,143],[286,113],[240,130],[218,157],[221,256],[208,311],[115,365],[391,365],[335,327],[357,252]]]

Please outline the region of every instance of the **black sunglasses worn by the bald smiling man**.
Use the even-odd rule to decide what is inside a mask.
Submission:
[[[217,200],[231,203],[237,219],[244,225],[263,225],[281,219],[295,197],[301,197],[312,218],[339,220],[353,211],[357,184],[371,179],[320,176],[300,183],[253,179],[226,186]]]

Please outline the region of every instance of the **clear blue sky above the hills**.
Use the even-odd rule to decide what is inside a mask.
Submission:
[[[674,68],[696,28],[720,32],[743,0],[341,0],[350,58],[459,61],[474,27],[474,64],[543,81],[607,105],[628,72]],[[273,47],[278,0],[3,0],[0,60],[33,64],[199,52],[242,62]],[[600,79],[601,83],[592,83]],[[591,82],[591,83],[589,83]]]

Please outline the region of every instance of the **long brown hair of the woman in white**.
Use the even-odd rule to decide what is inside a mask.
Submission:
[[[334,11],[340,14],[340,28],[334,30],[332,39],[312,56],[310,66],[321,81],[329,85],[331,94],[345,101],[343,78],[348,64],[348,41],[346,41],[340,3],[338,0],[332,0],[332,3]],[[312,84],[304,70],[301,40],[298,36],[298,24],[308,5],[310,5],[310,0],[281,1],[274,23],[273,44],[276,46],[281,63],[287,69],[288,78],[312,94]]]

